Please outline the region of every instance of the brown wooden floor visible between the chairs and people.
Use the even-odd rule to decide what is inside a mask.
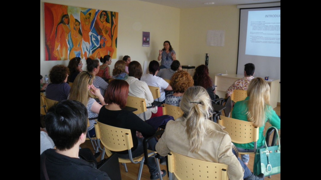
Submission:
[[[277,115],[281,116],[281,105],[277,105],[277,107],[275,107],[274,110]],[[271,126],[271,124],[267,123],[265,125],[265,130],[270,126]],[[281,130],[279,130],[279,135],[281,137]],[[270,140],[270,142],[271,142],[272,137],[270,137],[270,138],[271,138],[271,140]],[[81,145],[81,147],[82,148],[90,148],[94,153],[94,150],[93,150],[93,147],[92,147],[90,141],[86,141],[85,143],[83,143]],[[105,155],[105,158],[106,158],[106,155]],[[97,159],[100,159],[100,157],[98,157]],[[249,167],[249,169],[252,172],[253,172],[253,163],[254,163],[254,154],[251,154],[250,161],[247,166]],[[128,168],[127,173],[125,172],[125,168],[121,164],[119,164],[119,166],[120,166],[122,180],[135,180],[135,179],[137,179],[139,164],[127,163],[127,168]],[[166,170],[166,165],[160,165],[160,169]],[[281,174],[273,175],[273,176],[271,176],[271,178],[265,177],[265,180],[280,180],[280,179],[281,179]],[[143,173],[142,173],[141,180],[150,180],[150,174],[149,174],[147,166],[143,167]],[[164,176],[163,180],[168,180],[168,176],[167,175]]]

